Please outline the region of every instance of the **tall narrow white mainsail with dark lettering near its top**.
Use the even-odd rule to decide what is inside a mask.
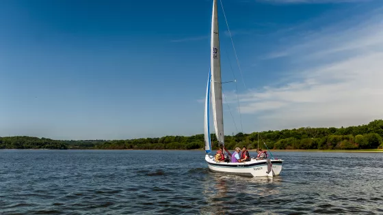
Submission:
[[[213,0],[211,17],[211,104],[215,135],[224,144],[224,115],[222,111],[222,81],[220,60],[220,37],[218,33],[217,0]]]

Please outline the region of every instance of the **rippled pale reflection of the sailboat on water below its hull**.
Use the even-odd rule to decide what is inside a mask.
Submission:
[[[200,208],[200,214],[232,214],[243,209],[263,214],[264,199],[272,199],[280,194],[278,187],[282,178],[243,177],[209,171],[202,183],[202,195],[206,203]],[[270,211],[267,214],[270,214]]]

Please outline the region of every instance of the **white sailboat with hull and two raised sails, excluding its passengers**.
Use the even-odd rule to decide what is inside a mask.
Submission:
[[[252,177],[274,177],[282,171],[283,160],[267,158],[247,162],[220,162],[211,153],[211,135],[209,129],[210,111],[213,113],[215,136],[219,144],[224,145],[224,116],[222,109],[222,81],[220,61],[220,34],[218,31],[217,0],[213,0],[211,18],[211,66],[207,81],[204,106],[204,142],[205,160],[211,171]],[[210,110],[211,108],[211,110]]]

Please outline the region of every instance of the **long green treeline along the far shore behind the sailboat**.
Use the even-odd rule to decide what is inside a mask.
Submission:
[[[347,128],[298,128],[259,132],[259,146],[269,149],[376,149],[383,146],[383,120]],[[4,141],[6,139],[6,141]],[[211,134],[213,149],[217,149],[215,134]],[[225,136],[227,149],[246,145],[256,149],[258,133]],[[203,149],[204,135],[191,137],[166,136],[128,140],[55,141],[36,137],[3,137],[0,148],[55,148],[55,149]]]

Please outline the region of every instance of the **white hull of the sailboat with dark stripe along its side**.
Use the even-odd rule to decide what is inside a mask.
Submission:
[[[245,175],[250,177],[274,177],[282,171],[283,160],[255,160],[246,162],[216,162],[213,156],[206,155],[205,160],[213,172]],[[271,163],[271,164],[270,164]],[[272,169],[272,171],[269,171]]]

